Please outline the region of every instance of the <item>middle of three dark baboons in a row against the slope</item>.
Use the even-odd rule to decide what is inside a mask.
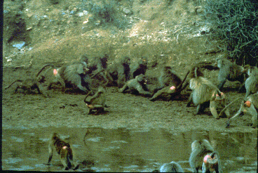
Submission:
[[[128,81],[130,75],[130,58],[125,56],[118,63],[111,63],[107,67],[106,78],[107,84],[116,83],[122,87]]]

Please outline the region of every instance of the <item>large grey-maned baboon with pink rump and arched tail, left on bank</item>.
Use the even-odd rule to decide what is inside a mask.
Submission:
[[[78,87],[81,91],[90,91],[90,79],[87,75],[88,68],[86,62],[88,62],[88,58],[86,56],[81,56],[79,61],[70,65],[62,65],[62,67],[57,69],[53,68],[52,65],[53,77],[56,78],[54,81],[48,82],[48,87],[53,82],[60,82],[62,84],[62,89],[64,89],[66,85],[71,84],[72,87]],[[45,65],[43,68],[46,68],[46,66],[51,65]]]

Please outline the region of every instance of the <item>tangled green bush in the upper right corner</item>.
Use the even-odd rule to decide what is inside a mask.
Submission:
[[[220,40],[219,49],[238,64],[257,65],[257,0],[207,0],[205,16],[212,23],[212,38]]]

